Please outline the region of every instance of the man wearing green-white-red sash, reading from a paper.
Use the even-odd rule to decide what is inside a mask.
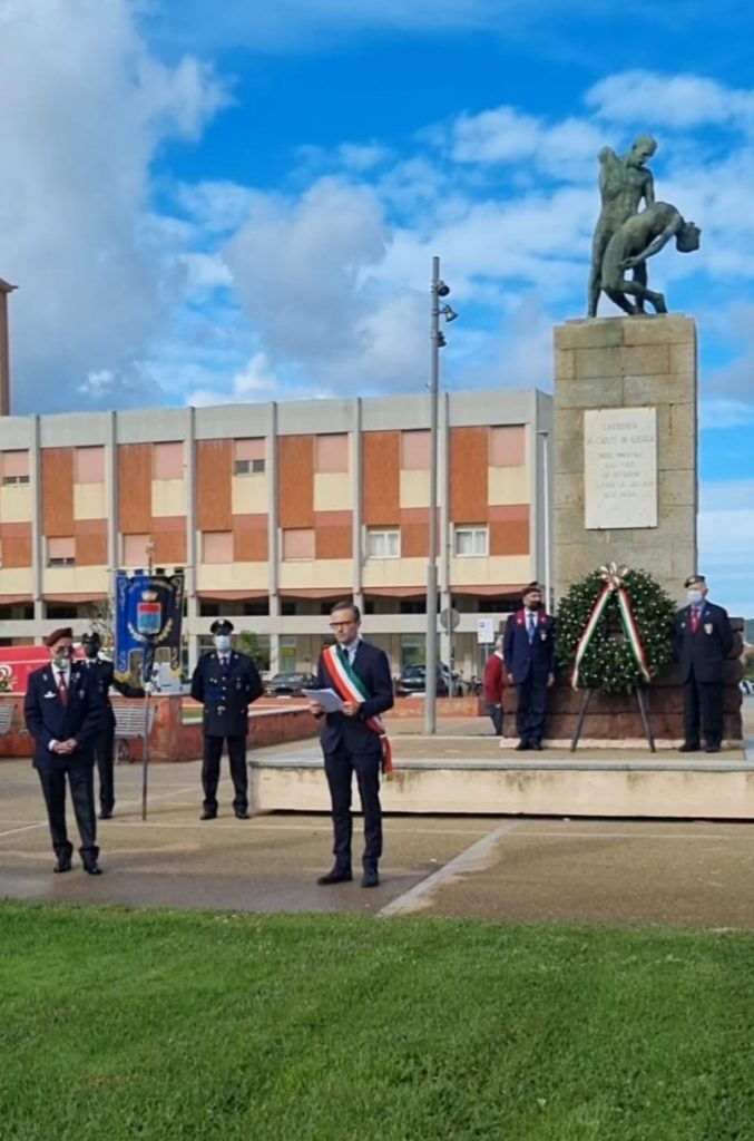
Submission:
[[[380,714],[392,709],[390,663],[378,646],[359,636],[362,615],[352,602],[337,602],[330,613],[330,629],[335,647],[319,655],[317,686],[335,689],[347,699],[342,709],[325,714],[322,751],[330,787],[333,820],[334,866],[319,876],[321,884],[343,883],[352,879],[351,819],[352,778],[356,772],[358,794],[364,814],[364,857],[362,887],[375,888],[380,882],[379,860],[382,855],[382,807],[380,804],[380,770],[383,746],[380,737]],[[331,659],[330,654],[337,654]],[[317,702],[309,706],[315,717],[324,710]],[[376,719],[376,720],[374,720]]]

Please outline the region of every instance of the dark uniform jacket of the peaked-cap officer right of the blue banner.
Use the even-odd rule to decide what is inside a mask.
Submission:
[[[216,650],[203,654],[192,677],[192,697],[204,706],[205,737],[245,737],[249,706],[262,695],[257,666],[248,654],[233,649],[222,669]]]

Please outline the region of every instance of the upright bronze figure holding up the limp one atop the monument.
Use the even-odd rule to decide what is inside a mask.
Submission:
[[[613,235],[637,213],[641,202],[655,201],[655,180],[644,165],[657,149],[651,135],[639,135],[627,154],[621,157],[610,147],[602,147],[600,160],[600,195],[602,207],[592,238],[592,266],[589,275],[587,316],[597,316],[602,277],[602,260]]]

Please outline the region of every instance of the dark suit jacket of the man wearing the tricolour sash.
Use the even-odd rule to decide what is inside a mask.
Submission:
[[[382,747],[376,733],[364,722],[392,709],[395,696],[388,655],[379,646],[359,641],[352,670],[364,682],[370,697],[357,717],[346,717],[344,713],[325,714],[322,730],[322,748],[325,753],[335,753],[341,748],[349,753],[371,753],[380,752]],[[319,689],[332,687],[332,678],[322,655],[317,664],[317,686]]]

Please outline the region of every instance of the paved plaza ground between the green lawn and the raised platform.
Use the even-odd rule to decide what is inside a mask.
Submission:
[[[751,709],[747,721],[751,733]],[[438,747],[457,744],[448,737]],[[16,899],[754,930],[754,823],[391,816],[382,883],[366,891],[358,876],[316,884],[331,864],[324,815],[236,820],[226,775],[219,818],[201,822],[196,761],[151,769],[146,822],[140,766],[116,768],[115,816],[99,826],[99,879],[78,865],[52,874],[29,761],[3,761],[0,790],[0,896]]]

